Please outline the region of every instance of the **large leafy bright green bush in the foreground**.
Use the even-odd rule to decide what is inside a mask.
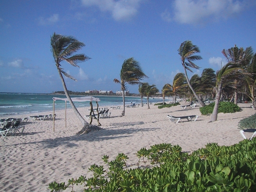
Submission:
[[[156,144],[150,149],[142,148],[136,155],[138,168],[128,169],[128,156],[124,154],[118,154],[113,161],[103,156],[106,170],[94,164],[89,168],[92,178],[80,176],[67,184],[54,181],[48,189],[74,191],[75,185],[84,184],[85,192],[256,191],[256,138],[232,146],[207,144],[191,154],[182,152],[179,145]],[[139,167],[144,158],[151,161],[151,167]]]

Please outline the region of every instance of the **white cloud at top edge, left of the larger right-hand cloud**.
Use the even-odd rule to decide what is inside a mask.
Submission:
[[[81,0],[84,6],[97,6],[102,12],[110,12],[116,21],[136,15],[142,0]]]

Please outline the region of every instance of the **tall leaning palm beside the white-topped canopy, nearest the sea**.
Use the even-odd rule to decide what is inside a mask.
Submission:
[[[62,35],[58,35],[58,34],[54,33],[51,36],[51,40],[50,40],[51,52],[53,54],[53,58],[54,58],[57,70],[61,77],[61,82],[62,82],[62,85],[64,88],[65,95],[66,95],[67,99],[69,100],[70,105],[73,108],[75,115],[84,124],[84,127],[82,129],[83,132],[79,132],[80,134],[90,132],[93,128],[96,128],[96,127],[87,123],[84,120],[84,118],[81,116],[81,114],[78,112],[77,108],[74,106],[73,101],[72,101],[71,97],[69,96],[68,89],[67,89],[67,86],[65,84],[62,74],[74,81],[76,81],[76,80],[70,74],[63,71],[63,68],[61,68],[61,61],[67,61],[72,66],[79,67],[77,65],[77,63],[90,59],[89,57],[85,56],[85,54],[75,54],[74,55],[74,53],[76,51],[78,51],[79,49],[81,49],[84,46],[85,46],[84,43],[78,41],[73,36],[62,36]]]

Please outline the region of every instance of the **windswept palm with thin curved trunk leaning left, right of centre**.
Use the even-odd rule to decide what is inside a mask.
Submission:
[[[202,59],[201,56],[194,55],[195,53],[199,53],[200,50],[197,46],[192,44],[192,41],[187,40],[181,44],[180,48],[178,49],[178,52],[179,52],[179,55],[181,56],[181,61],[182,61],[182,65],[184,68],[185,77],[187,79],[188,86],[190,87],[195,98],[199,101],[201,106],[204,107],[205,106],[204,102],[202,102],[201,99],[199,99],[199,97],[196,95],[195,90],[189,83],[189,79],[187,76],[187,70],[190,72],[193,72],[190,68],[199,69],[199,67],[197,65],[195,65],[195,63],[193,63],[193,61]]]

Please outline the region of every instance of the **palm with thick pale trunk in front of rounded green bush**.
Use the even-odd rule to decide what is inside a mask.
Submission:
[[[219,108],[219,100],[220,100],[220,95],[222,92],[222,85],[224,84],[224,82],[226,81],[227,78],[229,78],[229,76],[231,74],[234,74],[234,72],[236,70],[240,70],[240,68],[233,64],[232,62],[227,63],[226,65],[224,65],[218,72],[217,72],[217,76],[216,76],[216,97],[215,97],[215,104],[214,104],[214,108],[213,108],[213,112],[211,115],[211,120],[210,122],[216,121],[217,117],[218,117],[218,108]]]

